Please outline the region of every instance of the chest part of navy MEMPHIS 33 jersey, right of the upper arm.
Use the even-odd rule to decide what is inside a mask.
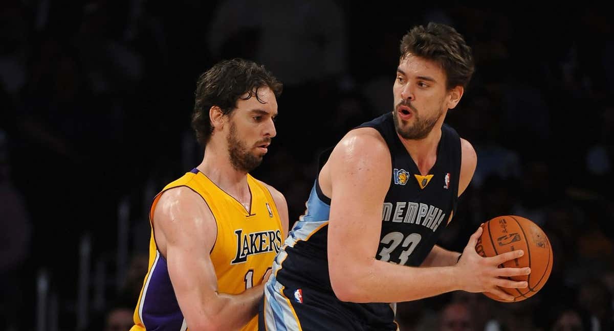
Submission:
[[[435,164],[426,176],[422,176],[398,138],[392,113],[360,127],[377,129],[386,140],[392,157],[392,179],[384,199],[376,258],[418,266],[456,212],[461,138],[452,127],[443,124]]]

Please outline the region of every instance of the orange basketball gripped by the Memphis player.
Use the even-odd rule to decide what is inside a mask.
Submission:
[[[529,299],[542,289],[550,277],[553,264],[552,247],[543,230],[530,219],[514,215],[497,216],[482,224],[482,228],[482,235],[475,245],[480,256],[491,257],[522,249],[523,256],[507,261],[499,268],[531,268],[529,275],[508,277],[513,281],[527,281],[529,286],[524,289],[500,289],[513,295],[513,302]],[[484,295],[500,302],[509,302],[488,292],[484,292]]]

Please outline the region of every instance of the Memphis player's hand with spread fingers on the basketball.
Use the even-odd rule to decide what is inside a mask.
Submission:
[[[507,294],[499,287],[524,289],[526,281],[513,281],[507,277],[529,275],[530,268],[499,268],[503,262],[523,256],[521,250],[511,251],[497,256],[482,257],[475,251],[475,245],[482,234],[482,227],[469,238],[455,268],[458,272],[460,287],[467,292],[490,292],[503,300],[513,301],[513,295]]]

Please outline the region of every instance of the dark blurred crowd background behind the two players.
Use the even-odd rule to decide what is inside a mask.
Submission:
[[[532,219],[554,250],[537,295],[453,292],[398,305],[401,330],[614,330],[614,31],[585,2],[434,6],[349,0],[0,4],[0,329],[127,330],[152,197],[196,166],[196,78],[220,59],[284,83],[254,176],[304,211],[319,151],[392,110],[411,26],[454,26],[476,72],[446,122],[478,167],[440,245]],[[605,6],[605,5],[604,5]],[[436,281],[436,280],[434,280]]]

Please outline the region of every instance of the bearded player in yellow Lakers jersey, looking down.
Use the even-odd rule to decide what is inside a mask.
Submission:
[[[203,162],[153,200],[149,272],[131,330],[257,330],[288,210],[280,192],[249,172],[276,135],[281,90],[263,66],[243,59],[199,78],[192,127]]]

